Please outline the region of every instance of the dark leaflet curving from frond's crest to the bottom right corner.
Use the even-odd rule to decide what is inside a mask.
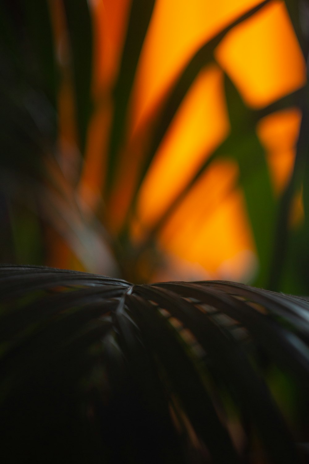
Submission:
[[[166,284],[165,287],[179,291],[182,284],[177,284],[177,286]],[[187,289],[190,289],[190,284],[187,284]],[[160,306],[169,310],[172,315],[177,316],[180,321],[184,322],[185,327],[188,327],[196,336],[208,353],[210,360],[213,361],[215,369],[219,371],[224,382],[231,389],[231,394],[236,403],[240,405],[242,412],[257,427],[273,462],[289,463],[291,459],[297,459],[295,447],[292,445],[290,434],[285,428],[281,414],[277,411],[265,384],[256,375],[246,359],[246,355],[238,347],[235,340],[227,332],[224,334],[222,328],[218,329],[207,314],[199,311],[193,304],[185,300],[182,301],[173,293],[164,292],[155,286],[146,287],[145,290],[144,287],[141,287],[140,292],[144,297],[147,295],[149,299],[156,301]],[[184,293],[186,296],[189,295],[186,290]],[[194,289],[192,293],[194,293]],[[219,306],[218,309],[222,310],[221,304],[212,298],[211,293],[208,294],[208,297],[209,301],[205,295],[202,302],[214,305],[214,308]],[[225,301],[225,305],[228,304],[227,301]],[[255,400],[252,401],[252,398]],[[282,440],[286,444],[284,450],[280,446]]]

